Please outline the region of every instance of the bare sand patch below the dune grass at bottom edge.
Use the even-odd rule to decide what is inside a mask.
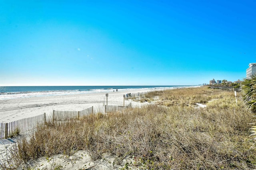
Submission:
[[[54,155],[50,158],[41,157],[29,162],[35,170],[62,169],[62,170],[120,170],[120,169],[143,169],[140,166],[134,166],[134,158],[126,157],[119,165],[114,156],[103,154],[99,160],[92,160],[90,154],[85,150],[80,150],[72,156]],[[128,165],[128,166],[127,166]]]

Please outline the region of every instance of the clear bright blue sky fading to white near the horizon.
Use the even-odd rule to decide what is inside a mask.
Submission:
[[[197,85],[256,63],[256,0],[0,0],[0,86]]]

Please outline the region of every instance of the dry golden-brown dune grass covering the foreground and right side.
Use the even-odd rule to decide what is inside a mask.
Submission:
[[[246,169],[256,168],[256,147],[250,140],[254,115],[238,93],[207,88],[150,92],[155,104],[122,113],[97,113],[80,120],[48,122],[30,141],[10,149],[6,169],[41,156],[72,155],[88,150],[97,160],[103,153],[116,157],[114,164],[130,157],[138,169]],[[196,108],[196,103],[206,108]],[[12,166],[10,166],[12,165]]]

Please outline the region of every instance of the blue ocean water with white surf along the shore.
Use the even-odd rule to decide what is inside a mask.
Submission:
[[[184,86],[0,86],[0,100],[36,96],[118,92],[133,89],[178,88]]]

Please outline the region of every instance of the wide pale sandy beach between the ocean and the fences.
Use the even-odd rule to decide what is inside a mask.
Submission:
[[[153,90],[161,89],[152,88],[110,92],[108,93],[108,105],[123,106],[124,94],[141,93]],[[130,104],[130,102],[132,102],[132,106],[141,105],[138,102],[125,100],[125,106]],[[81,111],[92,106],[94,107],[94,112],[98,112],[102,111],[104,104],[106,105],[105,92],[0,100],[0,122],[8,123],[43,113],[50,115],[53,110]]]

